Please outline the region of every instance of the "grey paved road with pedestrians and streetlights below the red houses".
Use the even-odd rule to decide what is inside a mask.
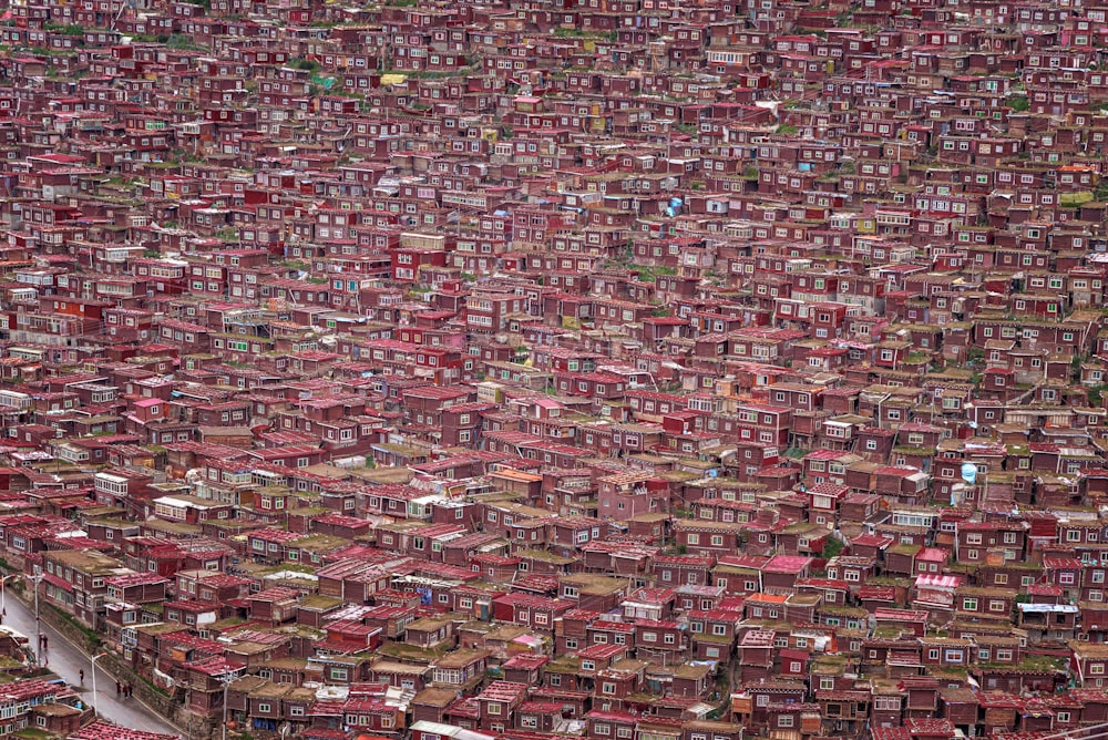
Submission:
[[[3,618],[4,626],[23,633],[31,646],[35,646],[34,608],[23,606],[23,603],[10,593],[4,595],[4,608],[8,610],[8,616]],[[47,650],[48,667],[69,681],[84,701],[92,706],[99,703],[101,717],[136,730],[179,734],[179,731],[137,699],[127,699],[126,701],[116,699],[115,679],[100,667],[96,668],[98,701],[94,701],[92,697],[92,666],[89,657],[45,621],[42,623],[42,634],[47,636],[49,645]],[[82,669],[84,670],[83,689],[78,675],[78,671]]]

